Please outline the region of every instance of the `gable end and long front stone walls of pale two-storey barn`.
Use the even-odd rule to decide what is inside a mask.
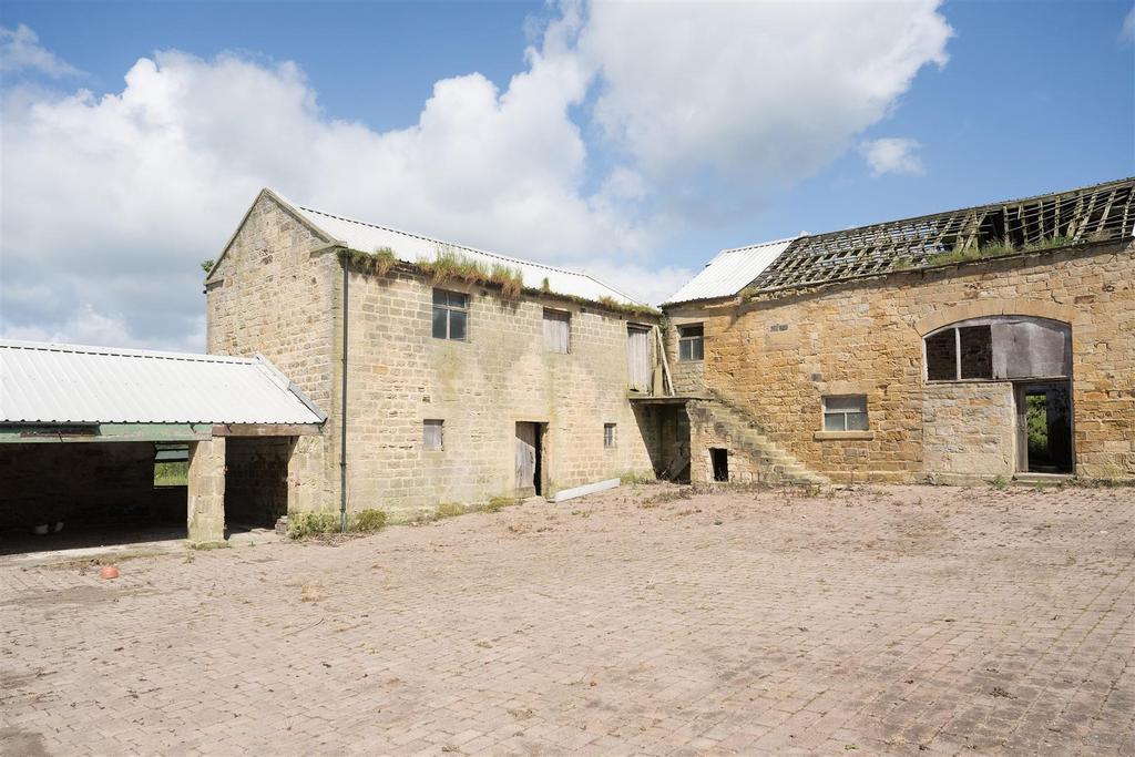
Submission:
[[[210,352],[263,354],[328,414],[320,436],[296,440],[288,510],[339,506],[343,269],[328,244],[261,196],[207,281]],[[651,470],[653,431],[627,395],[625,319],[442,286],[471,295],[468,342],[432,338],[422,277],[351,275],[350,510],[397,520],[511,494],[518,421],[547,427],[545,494]],[[545,305],[572,313],[570,354],[545,350]],[[424,419],[445,421],[444,451],[422,448]],[[614,448],[604,447],[604,423],[616,424]]]

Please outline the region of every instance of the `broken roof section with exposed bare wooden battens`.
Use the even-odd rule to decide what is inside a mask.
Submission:
[[[1129,239],[1135,178],[804,236],[751,283],[755,293],[815,286],[1090,242]]]

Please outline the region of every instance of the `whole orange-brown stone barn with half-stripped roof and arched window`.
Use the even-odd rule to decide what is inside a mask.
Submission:
[[[1135,479],[1133,187],[722,252],[663,305],[691,478]]]

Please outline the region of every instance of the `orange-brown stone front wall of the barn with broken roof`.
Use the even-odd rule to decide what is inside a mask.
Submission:
[[[1069,322],[1076,471],[1135,477],[1130,247],[1093,245],[892,274],[680,312],[705,323],[708,388],[743,407],[773,440],[834,480],[908,481],[940,465],[978,464],[943,452],[942,431],[932,431],[927,440],[927,429],[939,423],[927,409],[941,405],[943,395],[928,394],[923,379],[925,334],[991,314]],[[838,394],[867,396],[869,431],[821,432],[821,398]],[[957,397],[970,410],[976,399]],[[967,414],[949,411],[950,434],[976,439],[991,413],[1002,418],[1002,410],[991,404]],[[968,428],[967,418],[973,419]],[[1011,422],[1006,422],[1011,434]],[[994,446],[1003,447],[1003,439]],[[992,470],[992,461],[1003,455],[1003,448],[990,452],[980,466]]]

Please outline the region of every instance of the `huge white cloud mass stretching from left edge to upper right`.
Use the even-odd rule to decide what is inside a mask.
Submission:
[[[699,203],[817,170],[945,60],[934,3],[815,8],[566,3],[507,86],[439,81],[388,132],[325,112],[295,64],[235,54],[159,51],[101,96],[9,86],[2,329],[203,347],[199,262],[261,186],[657,302],[691,275],[656,260]]]

